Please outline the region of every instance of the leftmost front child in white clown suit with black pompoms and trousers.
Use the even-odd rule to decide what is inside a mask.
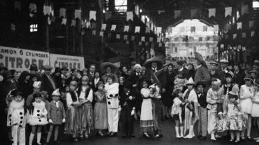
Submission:
[[[7,126],[11,127],[13,145],[25,145],[26,109],[21,92],[11,91],[14,99],[11,100],[7,114]]]

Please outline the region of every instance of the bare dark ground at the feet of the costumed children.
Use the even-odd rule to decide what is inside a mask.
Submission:
[[[91,144],[91,145],[102,145],[102,144],[107,144],[107,145],[127,145],[127,144],[141,144],[141,145],[150,145],[150,144],[161,144],[161,145],[167,145],[167,144],[199,144],[199,145],[205,145],[205,144],[210,144],[210,145],[216,145],[216,144],[235,144],[235,143],[231,143],[229,142],[229,137],[224,137],[222,139],[218,139],[218,141],[211,141],[208,139],[203,140],[203,141],[199,141],[199,139],[176,139],[175,137],[175,131],[174,131],[174,124],[171,120],[166,120],[163,122],[163,133],[164,133],[164,137],[160,138],[160,139],[147,139],[142,137],[142,132],[140,132],[140,127],[139,127],[139,123],[135,122],[134,124],[134,132],[135,132],[135,136],[134,138],[121,138],[120,137],[120,133],[117,135],[117,137],[96,137],[95,135],[93,135],[93,137],[91,137],[88,140],[83,140],[83,141],[78,141],[78,142],[73,142],[70,141],[68,139],[67,136],[62,135],[63,138],[62,139],[62,144],[63,145],[85,145],[85,144]],[[255,137],[258,134],[253,134],[253,136]],[[241,141],[239,144],[243,145],[243,144],[249,144],[249,145],[253,145],[253,144],[259,144],[256,143],[255,141]]]

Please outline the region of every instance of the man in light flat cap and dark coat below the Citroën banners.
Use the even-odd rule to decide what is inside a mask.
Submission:
[[[53,93],[53,91],[57,88],[56,81],[51,74],[53,67],[50,65],[45,65],[43,66],[43,69],[45,70],[45,73],[43,74],[41,80],[41,91],[47,91],[48,96],[51,96],[51,93]],[[48,101],[51,102],[50,97],[48,98]]]

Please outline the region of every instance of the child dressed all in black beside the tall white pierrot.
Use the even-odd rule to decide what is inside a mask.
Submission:
[[[132,92],[132,84],[125,81],[123,91],[120,92],[120,108],[122,120],[122,137],[134,137],[133,116],[135,114],[135,99]]]

